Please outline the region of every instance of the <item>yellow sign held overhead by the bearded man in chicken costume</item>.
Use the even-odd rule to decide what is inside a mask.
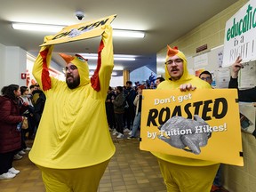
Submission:
[[[62,44],[100,36],[105,30],[102,27],[104,25],[109,25],[113,20],[115,20],[115,18],[116,14],[110,15],[106,18],[101,18],[99,20],[93,20],[68,26],[66,28],[63,28],[58,34],[53,36],[51,41],[41,44],[40,46],[50,44]]]

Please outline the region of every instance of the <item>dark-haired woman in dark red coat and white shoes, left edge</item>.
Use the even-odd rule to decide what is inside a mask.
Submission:
[[[0,96],[0,180],[12,179],[20,171],[12,161],[21,148],[21,124],[27,118],[20,116],[25,107],[19,107],[20,87],[17,84],[4,86]]]

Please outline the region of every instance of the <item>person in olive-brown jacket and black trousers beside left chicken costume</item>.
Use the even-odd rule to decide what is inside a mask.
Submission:
[[[113,132],[113,135],[117,134],[118,139],[124,138],[124,92],[122,86],[117,86],[116,89],[116,99],[112,99],[112,103],[114,105],[114,113],[116,119],[116,132]]]

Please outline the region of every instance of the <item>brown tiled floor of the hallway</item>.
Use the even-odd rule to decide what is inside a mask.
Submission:
[[[116,139],[116,154],[104,173],[98,192],[165,192],[164,180],[156,157],[141,151],[138,140]],[[32,141],[28,140],[28,147]],[[44,192],[41,172],[28,159],[28,154],[16,160],[13,166],[20,170],[12,180],[0,181],[0,192]],[[60,191],[61,192],[61,191]],[[90,191],[89,191],[90,192]]]

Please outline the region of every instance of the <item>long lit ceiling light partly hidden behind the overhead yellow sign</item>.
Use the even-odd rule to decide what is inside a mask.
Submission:
[[[62,28],[67,26],[36,24],[36,23],[12,23],[12,28],[19,30],[41,31],[41,32],[55,32],[58,33]],[[145,32],[125,29],[113,29],[113,36],[135,37],[143,38]]]

